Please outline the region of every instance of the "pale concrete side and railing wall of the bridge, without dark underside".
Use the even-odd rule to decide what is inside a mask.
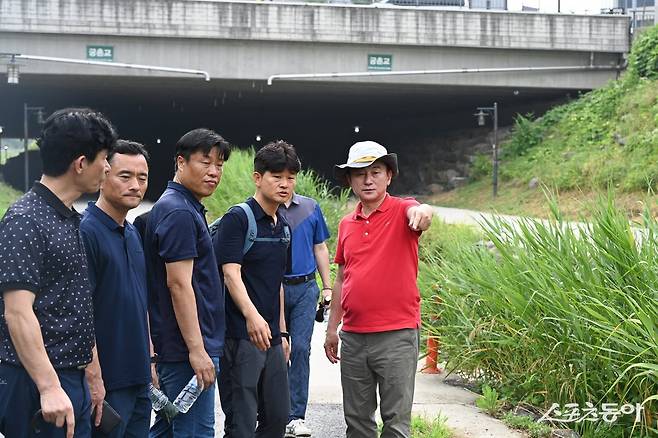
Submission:
[[[0,0],[0,32],[3,52],[85,58],[87,46],[109,46],[116,62],[188,66],[215,79],[254,81],[278,73],[362,71],[373,53],[391,55],[393,70],[428,70],[610,67],[629,49],[628,18],[620,16],[272,2]],[[25,72],[126,75],[52,64],[31,64]],[[613,76],[503,73],[378,81],[581,89]]]

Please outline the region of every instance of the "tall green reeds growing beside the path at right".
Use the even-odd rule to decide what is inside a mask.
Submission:
[[[634,231],[611,199],[589,223],[483,221],[493,250],[446,242],[421,272],[442,300],[431,327],[448,367],[511,400],[644,403],[624,436],[656,436],[658,247],[656,221]],[[594,427],[590,425],[590,428]]]

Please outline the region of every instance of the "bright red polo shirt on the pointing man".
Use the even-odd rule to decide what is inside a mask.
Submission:
[[[343,330],[372,333],[420,325],[419,232],[409,228],[413,198],[386,195],[365,217],[361,204],[338,227],[334,261],[343,265]]]

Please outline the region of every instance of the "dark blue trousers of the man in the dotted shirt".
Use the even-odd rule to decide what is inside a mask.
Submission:
[[[56,370],[64,392],[71,399],[75,414],[75,437],[91,437],[91,397],[83,370]],[[36,385],[23,367],[0,364],[0,432],[5,437],[60,438],[66,436],[66,426],[55,427],[38,422],[39,434],[30,423],[41,409]]]

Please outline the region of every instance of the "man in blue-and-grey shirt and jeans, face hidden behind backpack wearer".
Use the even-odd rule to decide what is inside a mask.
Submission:
[[[329,250],[325,240],[329,230],[318,203],[293,193],[279,212],[292,228],[292,269],[283,279],[286,325],[294,339],[290,351],[288,386],[290,415],[286,437],[308,437],[311,430],[304,417],[308,403],[309,359],[315,320],[315,306],[320,291],[315,271],[322,279],[322,295],[331,300]]]

